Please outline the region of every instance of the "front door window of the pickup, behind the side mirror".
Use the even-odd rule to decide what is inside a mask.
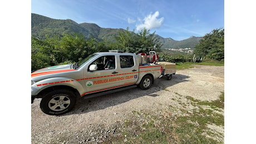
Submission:
[[[97,70],[115,69],[115,55],[101,56],[100,58],[93,61],[91,64],[96,64]]]

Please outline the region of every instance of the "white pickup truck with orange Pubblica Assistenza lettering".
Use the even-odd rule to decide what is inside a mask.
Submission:
[[[76,64],[43,68],[31,73],[31,103],[42,98],[41,110],[62,115],[76,104],[77,97],[95,97],[125,89],[149,89],[162,76],[163,67],[141,63],[131,53],[100,52]]]

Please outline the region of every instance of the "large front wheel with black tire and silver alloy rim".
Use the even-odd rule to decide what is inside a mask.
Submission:
[[[48,92],[40,102],[41,110],[47,115],[62,115],[72,110],[76,95],[71,90],[57,89]]]

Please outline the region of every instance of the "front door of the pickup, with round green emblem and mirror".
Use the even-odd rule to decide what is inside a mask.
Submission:
[[[90,71],[90,65],[96,65],[97,70]],[[89,64],[85,71],[86,94],[119,86],[119,71],[117,71],[115,55],[104,55]]]

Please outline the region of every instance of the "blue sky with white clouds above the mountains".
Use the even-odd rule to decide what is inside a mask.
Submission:
[[[146,28],[174,40],[224,28],[224,0],[31,0],[31,13],[101,28]]]

